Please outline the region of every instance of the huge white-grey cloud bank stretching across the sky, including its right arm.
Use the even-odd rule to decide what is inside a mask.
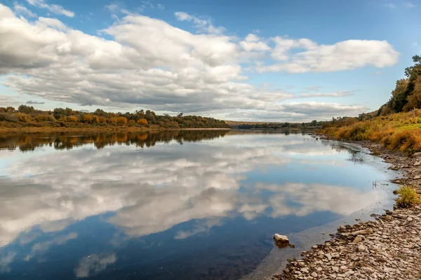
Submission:
[[[194,34],[115,4],[107,8],[125,16],[100,31],[105,39],[53,18],[27,21],[0,4],[0,41],[8,42],[1,46],[1,83],[57,103],[237,116],[256,110],[260,118],[278,111],[289,118],[294,114],[279,104],[297,97],[252,85],[248,73],[382,68],[399,57],[386,41],[319,45],[307,38],[237,38],[214,30],[209,18],[175,13],[199,29]]]

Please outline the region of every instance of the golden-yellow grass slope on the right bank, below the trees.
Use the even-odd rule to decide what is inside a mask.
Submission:
[[[421,151],[421,109],[331,125],[320,132],[338,140],[376,141],[391,150],[412,155]]]

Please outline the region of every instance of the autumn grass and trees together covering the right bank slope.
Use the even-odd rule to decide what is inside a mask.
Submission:
[[[333,118],[319,134],[340,141],[379,142],[406,155],[421,152],[421,56],[415,55],[413,62],[380,109],[357,118]]]

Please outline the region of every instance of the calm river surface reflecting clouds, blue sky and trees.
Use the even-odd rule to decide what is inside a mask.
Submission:
[[[301,132],[2,134],[0,278],[271,274],[309,232],[389,206],[386,167]]]

